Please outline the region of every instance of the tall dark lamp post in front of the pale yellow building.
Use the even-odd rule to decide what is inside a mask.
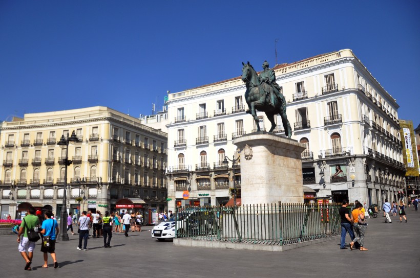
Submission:
[[[76,134],[74,133],[74,130],[72,132],[72,135],[69,137],[69,133],[67,133],[66,137],[63,135],[61,135],[60,141],[57,142],[58,146],[63,146],[66,148],[66,158],[64,158],[63,162],[65,165],[65,170],[64,170],[64,196],[62,198],[62,204],[63,207],[61,208],[61,213],[60,213],[60,233],[58,234],[58,240],[60,241],[65,241],[65,240],[69,240],[69,235],[67,234],[67,167],[69,165],[72,164],[72,160],[69,160],[69,143],[70,142],[78,142],[78,138],[76,136]]]

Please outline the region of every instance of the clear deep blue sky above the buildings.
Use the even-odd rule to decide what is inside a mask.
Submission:
[[[0,120],[96,105],[134,117],[242,61],[351,49],[420,123],[420,1],[0,1]]]

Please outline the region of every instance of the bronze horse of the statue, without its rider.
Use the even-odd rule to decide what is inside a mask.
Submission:
[[[257,117],[256,110],[265,112],[268,120],[271,123],[271,128],[268,132],[273,132],[276,128],[276,122],[274,117],[277,114],[280,114],[282,119],[284,132],[287,137],[291,137],[291,127],[290,123],[287,120],[286,115],[286,102],[283,99],[274,99],[274,107],[269,105],[268,95],[270,93],[271,86],[267,83],[262,83],[255,71],[254,67],[248,63],[242,62],[242,81],[245,83],[245,100],[248,104],[249,112],[257,125],[257,131],[260,131],[259,119]]]

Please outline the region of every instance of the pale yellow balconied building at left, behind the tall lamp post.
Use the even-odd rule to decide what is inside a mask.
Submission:
[[[166,207],[167,134],[108,107],[25,114],[3,122],[0,133],[1,216],[19,218],[28,203],[59,216],[64,195],[65,149],[61,135],[75,132],[70,143],[67,206],[81,210],[119,210],[116,202],[136,199],[148,214]],[[125,200],[127,201],[127,200]],[[124,200],[122,202],[124,203]],[[122,206],[124,207],[124,206]]]

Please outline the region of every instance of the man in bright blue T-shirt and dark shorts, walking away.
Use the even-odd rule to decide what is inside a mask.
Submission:
[[[51,219],[52,212],[45,212],[45,220],[41,227],[41,234],[43,234],[43,242],[41,245],[41,252],[44,253],[44,268],[48,267],[48,253],[51,254],[51,258],[54,261],[54,268],[58,267],[57,258],[55,256],[55,239],[58,235],[59,229],[57,220]],[[47,240],[46,237],[49,237]]]

